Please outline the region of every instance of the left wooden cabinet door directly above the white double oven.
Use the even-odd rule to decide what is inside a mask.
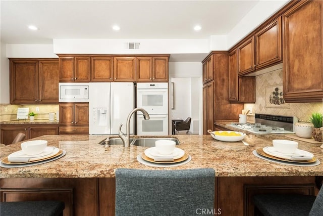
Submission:
[[[137,57],[137,81],[152,81],[152,57]]]

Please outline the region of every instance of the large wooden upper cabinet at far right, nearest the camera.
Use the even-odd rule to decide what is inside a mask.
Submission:
[[[286,102],[322,102],[322,13],[322,1],[300,1],[283,14]]]

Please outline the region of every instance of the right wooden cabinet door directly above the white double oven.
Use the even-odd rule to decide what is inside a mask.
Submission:
[[[152,81],[168,81],[168,57],[152,58]]]

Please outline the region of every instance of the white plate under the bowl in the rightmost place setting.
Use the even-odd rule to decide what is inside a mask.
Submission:
[[[288,160],[310,160],[314,155],[308,151],[296,149],[293,154],[284,154],[276,151],[274,146],[267,146],[262,149],[264,153]]]

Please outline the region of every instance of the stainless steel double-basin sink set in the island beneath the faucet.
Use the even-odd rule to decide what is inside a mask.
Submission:
[[[110,138],[110,145],[123,145],[123,142],[120,138]],[[130,145],[132,146],[147,146],[147,147],[154,147],[155,142],[157,140],[171,140],[176,143],[176,145],[180,144],[180,141],[177,138],[170,138],[170,137],[160,137],[160,138],[135,138],[130,139]],[[104,141],[104,140],[103,140]],[[105,144],[105,142],[100,142],[100,144]]]

